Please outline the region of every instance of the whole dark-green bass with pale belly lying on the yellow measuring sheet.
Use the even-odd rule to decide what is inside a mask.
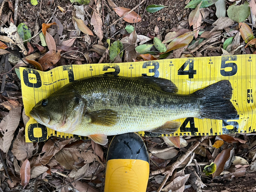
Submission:
[[[192,94],[177,94],[164,78],[96,75],[66,84],[30,111],[37,122],[58,132],[87,136],[105,145],[107,136],[146,131],[171,134],[180,118],[233,119],[228,80]]]

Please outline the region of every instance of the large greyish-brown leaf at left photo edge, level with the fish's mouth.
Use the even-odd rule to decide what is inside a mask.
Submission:
[[[0,148],[5,153],[8,153],[11,146],[13,133],[18,127],[21,112],[22,108],[20,106],[12,109],[0,123],[2,134],[4,135],[3,138],[0,138]]]

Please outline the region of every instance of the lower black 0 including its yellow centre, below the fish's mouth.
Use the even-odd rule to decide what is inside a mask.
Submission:
[[[31,142],[47,140],[47,127],[39,123],[32,123],[28,127],[28,138]]]

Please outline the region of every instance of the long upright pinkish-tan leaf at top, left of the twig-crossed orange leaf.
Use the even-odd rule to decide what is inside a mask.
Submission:
[[[93,12],[92,18],[91,18],[91,25],[94,27],[93,32],[97,35],[99,40],[101,41],[103,39],[103,31],[102,31],[102,20],[101,16],[99,14],[100,12],[100,1],[96,4],[96,10]]]

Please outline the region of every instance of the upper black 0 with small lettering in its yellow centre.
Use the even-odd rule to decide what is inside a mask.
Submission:
[[[23,80],[26,86],[30,88],[40,88],[42,86],[41,76],[34,69],[24,69]]]

